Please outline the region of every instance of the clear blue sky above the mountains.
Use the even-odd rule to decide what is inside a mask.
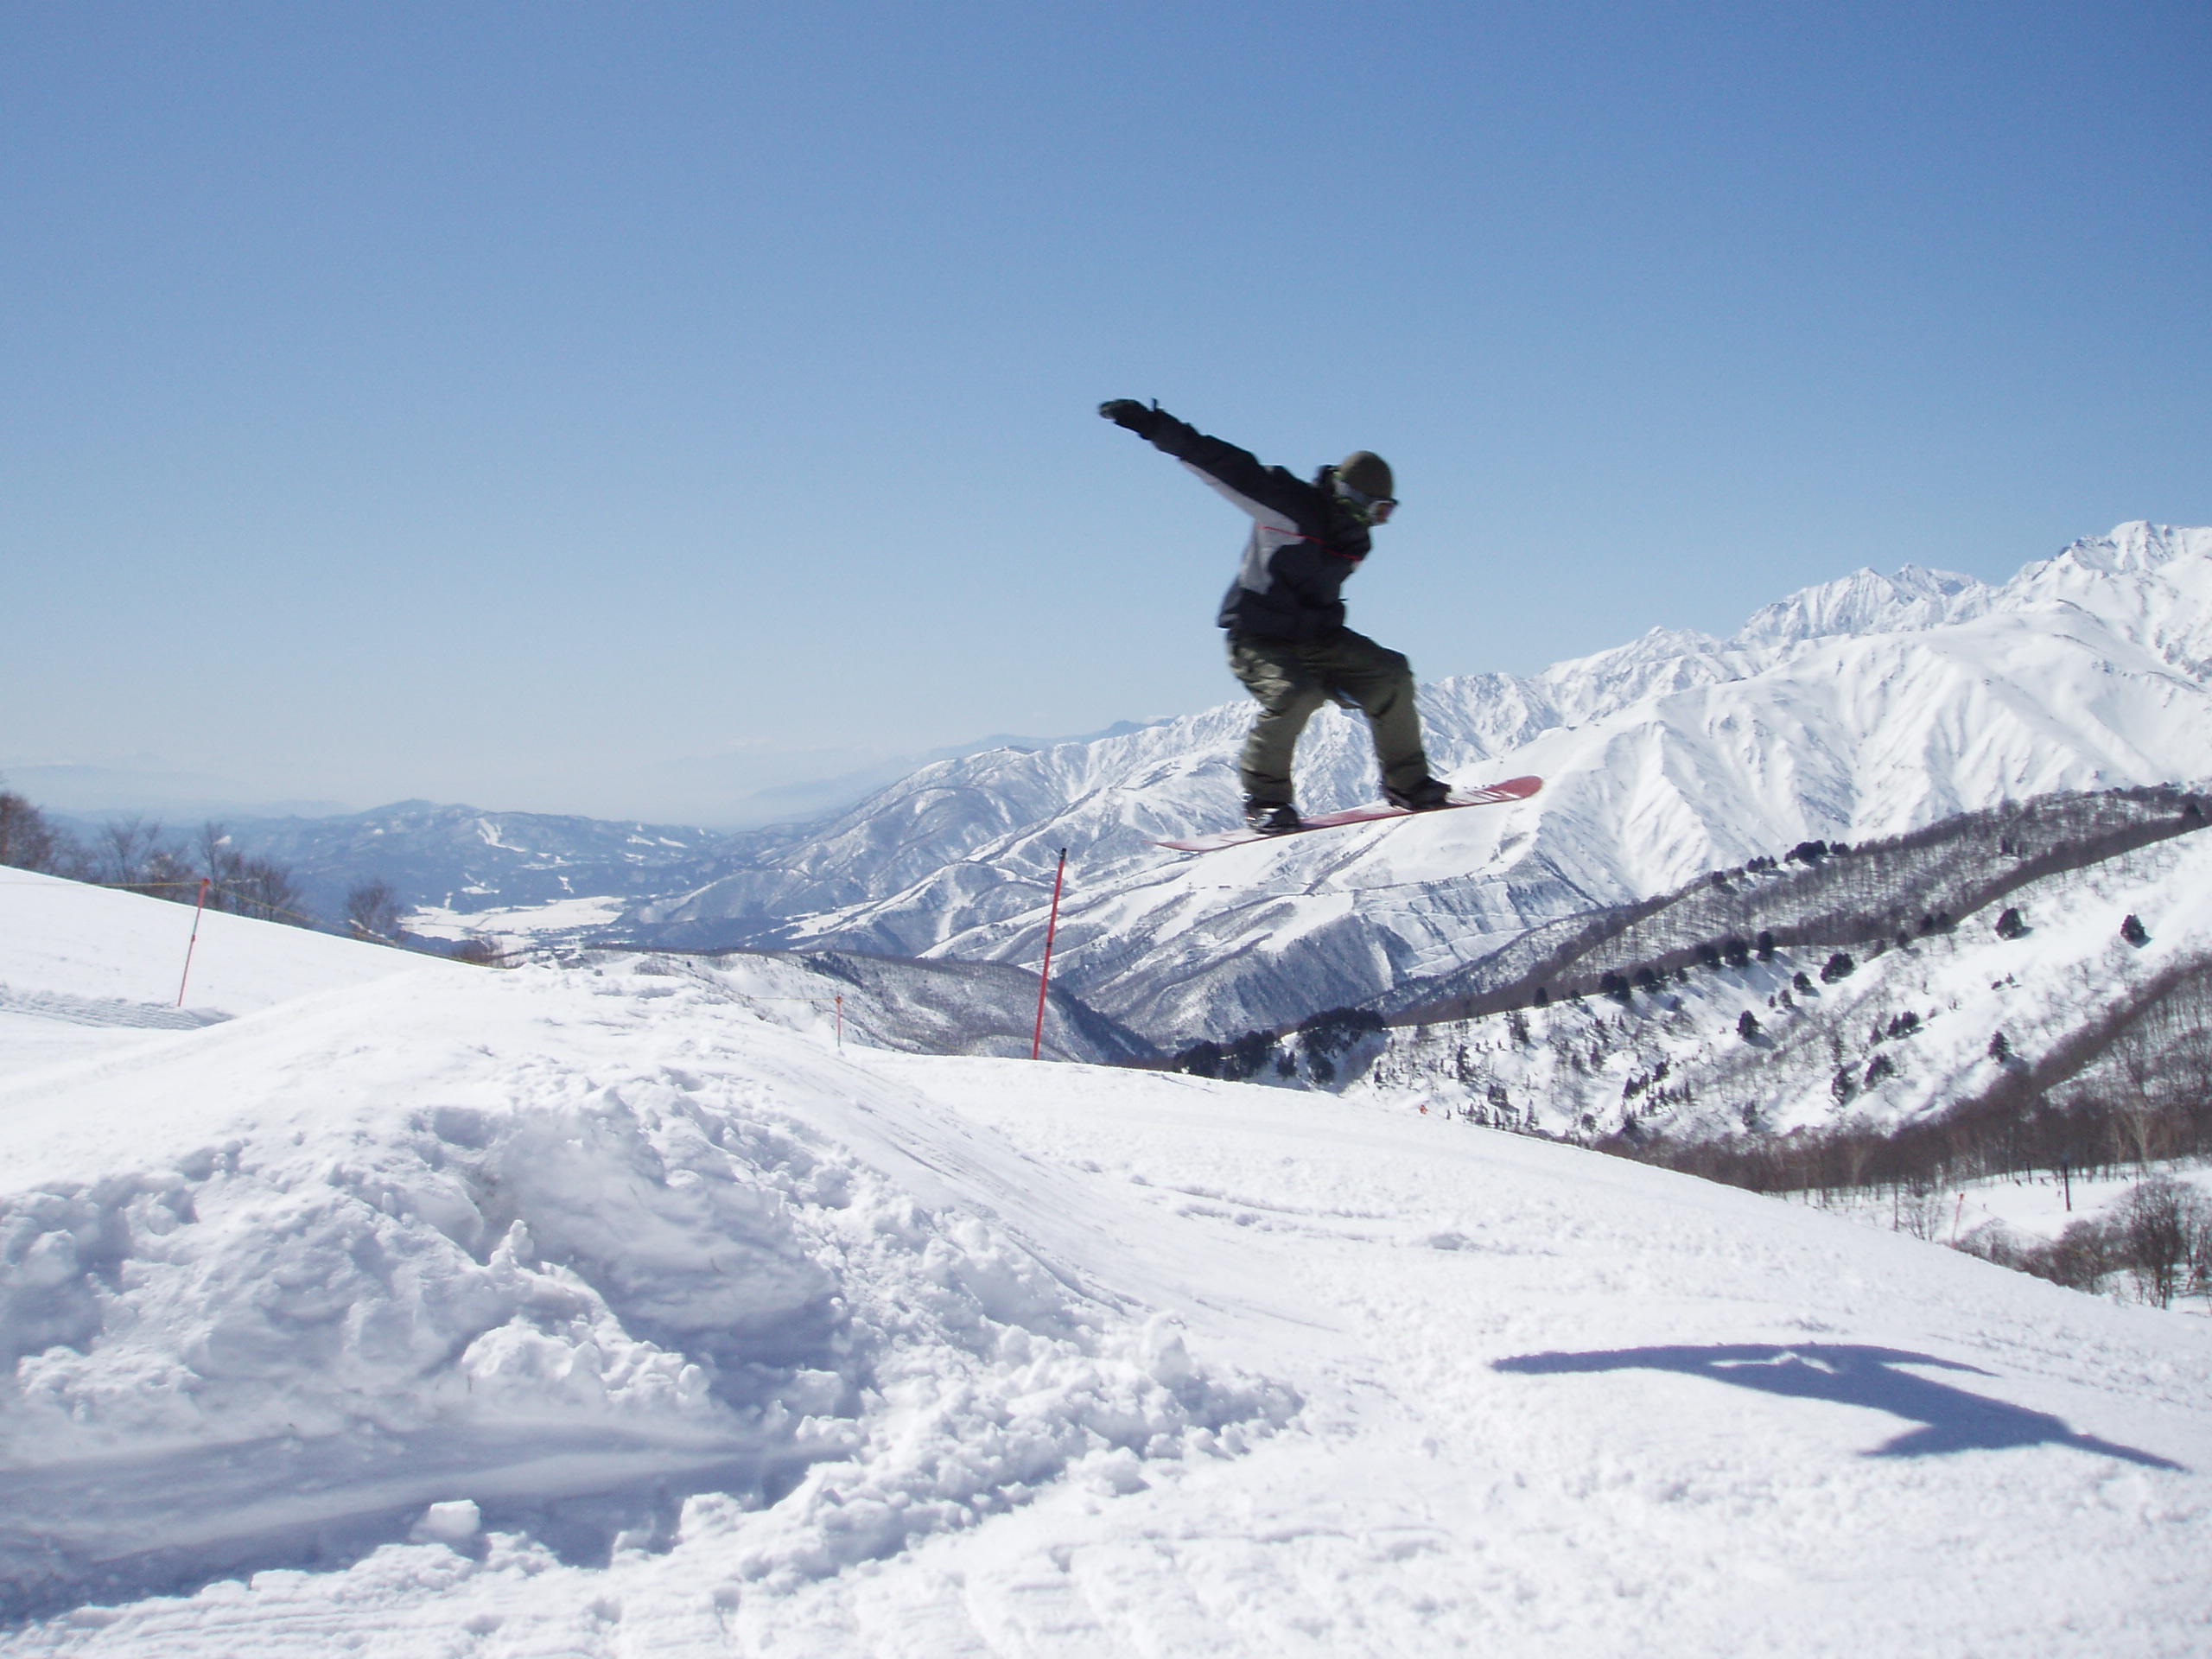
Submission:
[[[1230,699],[1108,396],[1389,456],[1425,677],[2212,522],[2208,97],[2201,0],[9,4],[0,765],[708,816]]]

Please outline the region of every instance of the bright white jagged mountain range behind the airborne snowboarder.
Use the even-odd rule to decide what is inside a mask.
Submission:
[[[1544,794],[1179,858],[1152,843],[1234,812],[1250,706],[1223,703],[925,768],[624,931],[1033,964],[1068,847],[1071,989],[1170,1046],[1285,1024],[1805,838],[2212,776],[2212,529],[2121,524],[2002,586],[1858,571],[1730,639],[1655,630],[1425,686],[1422,717],[1444,774],[1535,772]],[[1325,710],[1303,805],[1371,799],[1371,765],[1363,726]]]

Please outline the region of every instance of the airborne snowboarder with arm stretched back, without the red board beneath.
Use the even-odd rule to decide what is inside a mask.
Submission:
[[[1367,714],[1391,805],[1411,812],[1451,805],[1420,745],[1411,664],[1352,633],[1338,597],[1367,557],[1369,531],[1398,507],[1389,462],[1356,449],[1305,482],[1208,438],[1157,403],[1115,398],[1099,414],[1175,456],[1252,515],[1252,540],[1217,617],[1230,637],[1230,672],[1259,699],[1239,757],[1245,823],[1263,834],[1303,827],[1290,761],[1305,721],[1329,699]]]

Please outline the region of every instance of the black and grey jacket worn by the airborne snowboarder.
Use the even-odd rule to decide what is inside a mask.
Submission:
[[[1338,588],[1367,557],[1367,526],[1336,495],[1334,467],[1307,482],[1164,411],[1144,436],[1252,515],[1243,564],[1221,599],[1223,628],[1298,644],[1343,630]]]

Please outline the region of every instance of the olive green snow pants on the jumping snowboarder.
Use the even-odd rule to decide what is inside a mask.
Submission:
[[[1230,635],[1230,672],[1259,699],[1239,770],[1248,801],[1294,803],[1290,757],[1314,710],[1334,699],[1358,703],[1376,739],[1383,783],[1411,790],[1429,776],[1413,708],[1413,666],[1396,650],[1345,628],[1298,646]]]

